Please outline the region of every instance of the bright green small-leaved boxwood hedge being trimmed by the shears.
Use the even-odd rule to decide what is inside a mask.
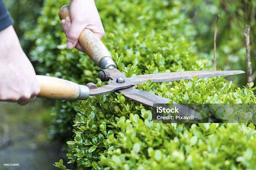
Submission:
[[[58,18],[65,4],[46,0],[37,28],[27,33],[36,43],[30,56],[37,73],[103,86],[97,78],[100,69],[89,57],[66,48]],[[195,29],[180,12],[182,2],[101,0],[96,5],[106,32],[102,41],[127,77],[212,69],[209,59],[196,55],[190,40]],[[223,77],[147,81],[136,88],[178,103],[256,102],[253,83],[239,88]],[[151,108],[112,92],[85,101],[57,101],[51,132],[65,140],[73,135],[67,159],[77,169],[255,169],[255,108],[252,114],[250,124],[153,123]],[[55,166],[66,169],[62,160]]]

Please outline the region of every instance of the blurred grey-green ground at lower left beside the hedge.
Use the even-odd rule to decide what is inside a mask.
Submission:
[[[20,106],[0,102],[0,169],[55,169],[61,144],[48,134],[51,107],[40,98]],[[46,163],[49,162],[49,163]],[[19,166],[4,166],[15,163]]]

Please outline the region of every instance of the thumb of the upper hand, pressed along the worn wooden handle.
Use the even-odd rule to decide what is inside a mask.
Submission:
[[[72,49],[76,47],[78,38],[85,27],[82,24],[78,24],[75,20],[72,21],[70,30],[67,35],[67,47]]]

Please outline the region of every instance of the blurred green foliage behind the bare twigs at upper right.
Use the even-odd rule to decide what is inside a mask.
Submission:
[[[240,0],[194,0],[186,3],[182,12],[188,15],[195,28],[194,40],[198,56],[213,61],[213,40],[217,16],[220,15],[216,38],[217,69],[244,70],[246,65],[246,44],[244,32],[251,26],[250,47],[252,72],[256,71],[256,1]],[[256,76],[256,75],[255,75]],[[255,78],[255,77],[254,77]],[[236,84],[245,85],[245,75],[232,78]],[[255,82],[255,80],[254,80]]]

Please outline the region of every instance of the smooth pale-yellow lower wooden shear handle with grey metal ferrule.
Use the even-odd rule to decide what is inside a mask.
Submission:
[[[87,86],[72,81],[41,75],[36,75],[36,79],[41,88],[39,97],[58,100],[85,100],[90,95]]]

